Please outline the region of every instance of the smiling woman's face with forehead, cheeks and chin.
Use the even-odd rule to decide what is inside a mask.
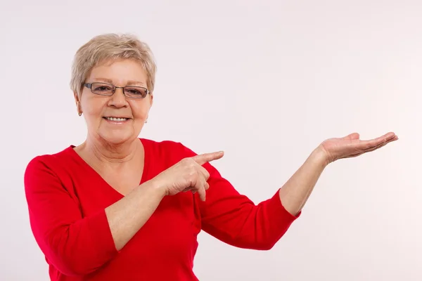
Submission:
[[[135,60],[113,60],[94,67],[85,83],[103,82],[114,86],[141,86],[147,88],[146,72]],[[94,89],[94,86],[92,87]],[[98,89],[98,88],[97,88]],[[100,88],[104,91],[108,88]],[[75,93],[88,126],[88,136],[110,145],[138,138],[148,118],[153,97],[127,98],[123,89],[115,89],[113,96],[92,93],[84,86],[80,98]]]

